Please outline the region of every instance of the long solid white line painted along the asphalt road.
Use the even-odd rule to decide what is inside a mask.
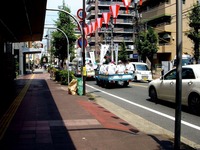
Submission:
[[[124,101],[124,102],[126,102],[126,103],[135,105],[135,106],[140,107],[140,108],[142,108],[142,109],[145,109],[145,110],[148,110],[148,111],[150,111],[150,112],[153,112],[153,113],[155,113],[155,114],[157,114],[157,115],[160,115],[160,116],[163,116],[163,117],[165,117],[165,118],[168,118],[168,119],[170,119],[170,120],[175,121],[175,118],[172,117],[172,116],[170,116],[170,115],[164,114],[164,113],[162,113],[162,112],[153,110],[153,109],[148,108],[148,107],[146,107],[146,106],[142,106],[142,105],[140,105],[140,104],[131,102],[130,100],[124,99],[124,98],[122,98],[122,97],[119,97],[119,96],[110,94],[110,93],[108,93],[108,92],[102,91],[102,90],[97,89],[97,88],[95,88],[95,87],[93,87],[93,86],[91,86],[91,85],[88,85],[88,84],[86,84],[86,85],[87,85],[88,87],[92,88],[92,89],[98,90],[98,91],[100,91],[100,92],[102,92],[102,93],[104,93],[104,94],[107,94],[107,95],[109,95],[109,96],[115,97],[115,98],[117,98],[117,99],[119,99],[119,100],[122,100],[122,101]],[[181,120],[181,123],[184,124],[184,125],[186,125],[186,126],[189,126],[189,127],[191,127],[191,128],[194,128],[194,129],[196,129],[196,130],[200,130],[200,127],[199,127],[199,126],[194,125],[194,124],[191,124],[191,123],[189,123],[189,122],[186,122],[186,121]]]

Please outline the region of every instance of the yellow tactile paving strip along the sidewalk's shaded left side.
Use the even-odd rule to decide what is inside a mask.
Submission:
[[[0,120],[0,140],[3,138],[13,116],[15,115],[15,112],[17,111],[18,107],[20,106],[31,82],[34,78],[34,74],[31,76],[28,83],[24,86],[22,91],[19,93],[19,95],[15,98],[15,100],[12,102],[6,113],[3,115],[3,117]]]

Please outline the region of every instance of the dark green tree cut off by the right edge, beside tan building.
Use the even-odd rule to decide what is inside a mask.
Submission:
[[[188,13],[190,30],[186,32],[188,38],[193,42],[194,59],[198,63],[200,45],[200,4],[196,3]]]

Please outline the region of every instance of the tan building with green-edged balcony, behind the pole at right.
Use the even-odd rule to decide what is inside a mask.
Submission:
[[[189,30],[188,12],[197,0],[183,0],[182,4],[182,51],[193,55],[193,43],[185,35]],[[141,23],[154,27],[159,35],[159,50],[155,64],[170,61],[176,56],[176,0],[143,0],[139,8]]]

